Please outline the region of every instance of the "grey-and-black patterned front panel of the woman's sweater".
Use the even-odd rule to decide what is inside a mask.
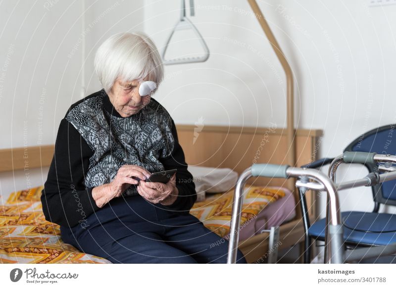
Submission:
[[[159,158],[173,150],[171,117],[153,99],[137,114],[123,118],[101,90],[72,106],[65,118],[94,151],[84,178],[87,188],[110,183],[125,164],[150,172],[164,170]],[[124,195],[137,193],[132,185]]]

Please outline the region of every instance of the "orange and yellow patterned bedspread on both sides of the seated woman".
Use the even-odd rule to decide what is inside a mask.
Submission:
[[[46,221],[40,201],[43,186],[12,193],[0,206],[0,263],[110,263],[82,253],[60,238],[59,226]],[[247,187],[241,225],[285,192],[275,187]],[[233,191],[196,203],[191,214],[214,233],[230,232]]]

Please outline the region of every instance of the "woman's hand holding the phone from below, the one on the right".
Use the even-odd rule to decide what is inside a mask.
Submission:
[[[139,194],[151,203],[171,205],[175,202],[179,191],[176,187],[176,173],[168,183],[140,181],[138,185]]]

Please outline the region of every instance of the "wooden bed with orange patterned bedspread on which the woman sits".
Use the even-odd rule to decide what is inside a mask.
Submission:
[[[241,173],[251,165],[254,159],[257,160],[257,163],[280,164],[285,161],[283,150],[287,144],[285,131],[282,129],[206,125],[196,137],[195,128],[191,125],[177,125],[179,142],[183,146],[189,165],[228,167]],[[271,132],[268,133],[268,131]],[[315,160],[317,141],[321,136],[321,131],[297,130],[296,135],[297,165]],[[268,142],[265,142],[265,146],[262,147],[259,158],[257,158],[257,149],[264,137]],[[53,156],[53,145],[1,149],[0,172],[23,170],[26,155],[28,155],[30,169],[47,167]],[[274,215],[276,214],[273,213],[285,207],[282,201],[290,199],[290,197],[294,200],[297,199],[295,191],[288,192],[286,189],[287,182],[279,179],[257,178],[248,184],[245,197],[255,193],[252,198],[254,201],[245,201],[247,206],[244,207],[244,211],[250,214],[247,215],[247,213],[247,217],[243,221],[249,223],[241,230],[242,237],[239,242],[239,248],[245,254],[247,262],[256,261],[269,250],[269,234],[267,232],[260,233],[261,230],[269,228],[268,225],[279,224],[279,241],[282,243],[280,248],[286,248],[303,241],[304,230],[298,206],[295,206],[296,217],[294,218],[292,217],[294,214],[286,213],[287,215],[284,214],[284,218],[281,217],[282,219],[279,220],[275,219]],[[0,202],[1,262],[108,263],[105,259],[81,253],[73,246],[62,243],[59,226],[46,222],[42,214],[41,189],[41,187],[36,187],[14,192]],[[248,189],[252,189],[253,192],[249,193]],[[266,197],[257,196],[260,193],[267,195]],[[206,227],[222,237],[227,237],[227,221],[229,221],[227,219],[230,219],[227,217],[231,215],[232,195],[232,190],[227,193],[210,195],[206,198],[206,202],[197,202],[191,213],[199,216],[198,218],[203,220]],[[308,195],[307,199],[308,205],[312,205],[313,195]],[[255,203],[258,200],[261,203]],[[213,208],[214,206],[216,209]],[[221,208],[219,208],[220,206]],[[205,209],[206,211],[202,211]],[[207,212],[207,210],[212,212]],[[265,214],[265,211],[270,212]],[[271,219],[271,215],[273,219]],[[257,220],[251,221],[252,218]],[[278,220],[278,223],[272,222],[271,224],[268,220]]]

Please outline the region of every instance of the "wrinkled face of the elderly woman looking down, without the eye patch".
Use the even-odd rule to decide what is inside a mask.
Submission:
[[[140,83],[138,80],[122,82],[117,79],[109,93],[110,102],[122,117],[129,117],[138,113],[146,106],[151,95],[139,95]]]

